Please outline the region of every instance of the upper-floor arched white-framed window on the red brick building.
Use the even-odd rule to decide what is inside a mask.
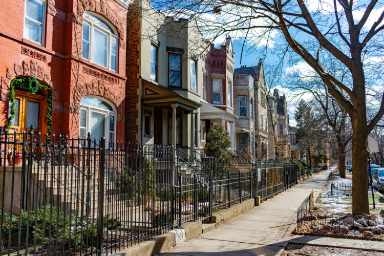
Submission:
[[[117,71],[116,30],[106,20],[94,13],[82,15],[81,57],[104,68]]]

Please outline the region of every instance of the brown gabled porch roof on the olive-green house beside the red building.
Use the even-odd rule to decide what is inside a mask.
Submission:
[[[185,109],[196,111],[200,108],[201,104],[194,100],[188,99],[160,84],[140,77],[143,82],[143,104],[144,106],[176,106]]]

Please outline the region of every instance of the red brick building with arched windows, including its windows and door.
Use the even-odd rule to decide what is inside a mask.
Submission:
[[[0,14],[0,125],[14,78],[35,77],[52,93],[52,132],[124,138],[129,0],[15,0]],[[12,129],[48,131],[47,90],[15,88]]]

